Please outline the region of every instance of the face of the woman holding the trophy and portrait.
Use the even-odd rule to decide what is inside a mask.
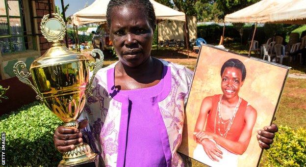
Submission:
[[[110,39],[119,60],[135,67],[148,59],[153,41],[153,28],[143,9],[118,6],[111,11]]]

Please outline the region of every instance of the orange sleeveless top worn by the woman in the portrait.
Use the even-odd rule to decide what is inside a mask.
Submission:
[[[208,112],[207,124],[205,128],[205,131],[215,133],[219,136],[221,136],[220,132],[221,134],[225,134],[226,129],[229,124],[228,120],[223,120],[223,122],[227,122],[226,124],[222,124],[221,122],[220,124],[218,123],[219,115],[218,115],[217,110],[218,110],[218,102],[220,100],[220,97],[221,97],[221,94],[217,94],[217,95],[214,95],[212,98],[212,106],[211,106],[211,110]],[[226,136],[226,139],[230,139],[232,141],[238,141],[242,133],[242,130],[245,126],[244,113],[246,111],[247,105],[248,105],[248,102],[241,99],[240,106],[238,108],[238,111],[236,112],[235,117],[233,118],[234,120]],[[220,132],[218,130],[219,128],[220,128]]]

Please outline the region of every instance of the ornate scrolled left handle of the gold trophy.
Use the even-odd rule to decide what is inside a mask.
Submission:
[[[37,94],[36,99],[40,100],[40,101],[43,101],[42,95],[40,93],[38,93],[35,86],[28,79],[32,76],[32,74],[29,73],[29,72],[27,72],[25,74],[23,71],[21,71],[21,70],[26,68],[26,63],[24,63],[23,61],[18,61],[17,63],[15,63],[13,68],[14,68],[14,73],[15,73],[16,77],[18,78],[18,80],[21,81],[22,83],[26,83],[27,85],[29,85],[35,91],[35,93]]]

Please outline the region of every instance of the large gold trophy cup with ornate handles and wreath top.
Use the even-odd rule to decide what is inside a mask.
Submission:
[[[49,18],[45,15],[41,22],[41,32],[52,47],[41,57],[35,59],[30,66],[30,73],[25,72],[26,64],[22,61],[14,65],[17,78],[31,86],[37,93],[36,99],[45,105],[64,122],[65,127],[78,128],[77,118],[84,108],[86,96],[93,89],[92,81],[95,74],[102,68],[103,53],[99,49],[91,52],[93,57],[97,53],[100,58],[90,61],[80,53],[75,53],[60,41],[66,33],[66,25],[58,14]],[[94,59],[94,58],[92,58]],[[90,69],[93,71],[89,79]],[[29,81],[32,77],[34,85]],[[86,143],[76,145],[72,151],[63,153],[63,160],[59,166],[75,166],[95,160],[95,154]]]

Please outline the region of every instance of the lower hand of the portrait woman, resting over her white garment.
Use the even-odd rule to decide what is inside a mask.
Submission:
[[[218,145],[216,143],[214,143],[213,141],[209,140],[209,139],[203,139],[201,141],[201,144],[204,148],[204,151],[206,152],[207,156],[212,160],[212,161],[218,161],[219,159],[217,157],[219,157],[220,159],[222,159],[222,151],[218,148]]]

